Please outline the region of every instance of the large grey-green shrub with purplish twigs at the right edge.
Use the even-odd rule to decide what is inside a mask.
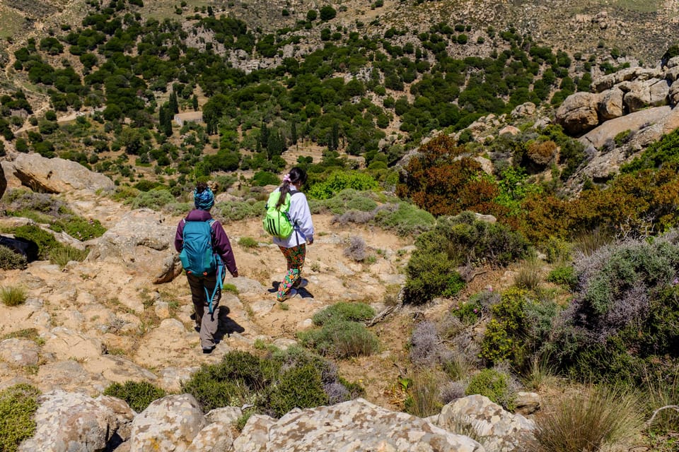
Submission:
[[[640,384],[679,364],[675,232],[604,246],[576,261],[578,289],[545,352],[577,379]]]

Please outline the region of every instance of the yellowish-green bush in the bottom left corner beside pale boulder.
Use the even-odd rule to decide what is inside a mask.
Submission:
[[[0,391],[0,451],[16,451],[21,441],[33,436],[38,396],[37,388],[24,383]]]

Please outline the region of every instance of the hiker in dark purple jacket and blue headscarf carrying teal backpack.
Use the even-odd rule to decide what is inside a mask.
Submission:
[[[236,259],[224,227],[210,215],[214,194],[204,182],[193,192],[195,209],[177,225],[175,249],[191,288],[196,312],[196,330],[203,353],[214,350],[214,335],[219,326],[219,300],[225,268],[238,278]]]

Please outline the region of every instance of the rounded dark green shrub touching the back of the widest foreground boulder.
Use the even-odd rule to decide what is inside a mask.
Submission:
[[[313,408],[328,403],[320,371],[312,364],[285,371],[279,384],[269,394],[269,400],[277,417],[293,408]]]

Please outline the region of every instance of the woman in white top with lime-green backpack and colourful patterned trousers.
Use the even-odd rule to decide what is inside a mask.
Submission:
[[[306,285],[302,267],[306,244],[313,244],[313,221],[306,196],[299,191],[305,182],[306,172],[294,167],[267,201],[267,215],[262,226],[274,237],[274,244],[282,251],[288,267],[278,286],[276,299],[279,302],[296,296],[297,290]]]

